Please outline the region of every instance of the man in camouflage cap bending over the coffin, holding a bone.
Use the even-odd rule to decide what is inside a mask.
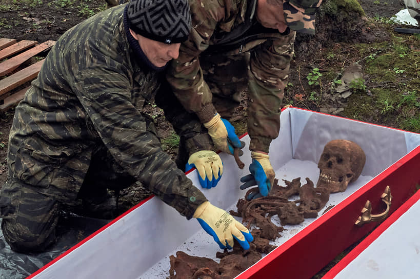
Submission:
[[[280,106],[293,57],[295,31],[313,34],[322,0],[190,0],[192,30],[167,79],[183,106],[208,128],[214,145],[232,153],[237,142],[226,119],[248,83],[250,175],[265,196],[274,181],[269,147],[278,136]],[[223,118],[222,118],[223,117]],[[234,144],[232,144],[234,147]]]

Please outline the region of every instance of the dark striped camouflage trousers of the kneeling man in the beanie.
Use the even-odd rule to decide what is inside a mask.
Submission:
[[[147,129],[156,135],[151,118],[146,120],[149,120],[146,121]],[[93,151],[78,198],[90,204],[99,204],[107,199],[107,189],[124,189],[135,181],[114,161],[106,147],[99,145]],[[48,182],[39,184],[48,185]],[[19,181],[9,171],[9,178],[0,193],[0,217],[3,218],[5,240],[17,252],[45,251],[56,241],[59,212],[75,203],[73,200],[57,201],[54,194],[43,193],[42,188]]]

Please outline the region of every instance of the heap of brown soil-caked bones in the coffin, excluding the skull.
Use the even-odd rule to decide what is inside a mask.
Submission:
[[[307,183],[301,187],[301,177],[297,177],[292,182],[283,180],[286,187],[278,185],[278,180],[274,180],[274,185],[268,196],[255,198],[246,201],[241,198],[237,204],[237,210],[230,211],[234,216],[242,217],[242,223],[247,225],[251,231],[254,241],[250,244],[250,249],[243,250],[235,244],[232,252],[225,250],[224,253],[217,252],[216,257],[221,258],[220,263],[207,257],[190,256],[182,251],[176,252],[176,257],[170,258],[170,278],[208,278],[208,279],[229,279],[233,278],[245,269],[255,264],[262,258],[262,253],[267,254],[276,246],[270,245],[270,240],[274,241],[281,237],[284,228],[282,226],[302,223],[305,218],[318,216],[329,200],[329,192],[314,188],[313,182],[306,178]],[[255,187],[250,189],[245,196],[251,192],[258,191]],[[297,197],[294,201],[289,198]],[[278,215],[282,226],[277,226],[271,222],[271,217]]]

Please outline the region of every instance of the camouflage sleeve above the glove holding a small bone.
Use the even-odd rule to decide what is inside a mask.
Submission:
[[[182,105],[205,123],[216,110],[198,56],[208,48],[217,23],[224,17],[224,7],[218,1],[204,0],[190,1],[190,9],[193,27],[188,41],[179,49],[179,57],[170,63],[167,79]]]

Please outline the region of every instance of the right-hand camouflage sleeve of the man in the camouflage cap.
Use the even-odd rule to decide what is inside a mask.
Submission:
[[[268,152],[280,130],[280,106],[289,77],[295,32],[268,40],[251,53],[248,70],[250,150]]]

